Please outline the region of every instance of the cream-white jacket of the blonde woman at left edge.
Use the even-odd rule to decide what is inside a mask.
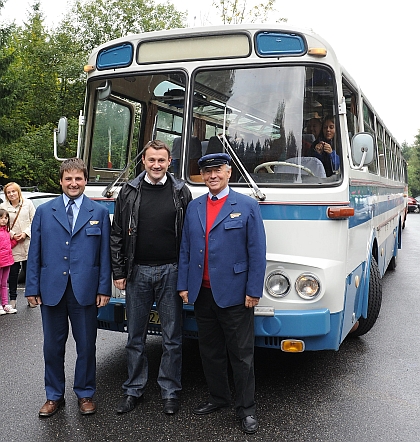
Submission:
[[[13,258],[15,262],[26,261],[28,258],[29,243],[31,240],[31,223],[35,215],[35,206],[31,200],[26,198],[23,199],[23,202],[19,203],[17,207],[13,207],[7,199],[1,205],[3,209],[6,209],[9,212],[10,225],[15,221],[20,205],[22,205],[22,209],[13,229],[10,230],[10,236],[13,237],[13,235],[23,232],[26,233],[26,238],[24,241],[19,241],[16,247],[13,248]]]

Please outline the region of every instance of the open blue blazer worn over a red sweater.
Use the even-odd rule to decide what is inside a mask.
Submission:
[[[194,303],[204,271],[208,194],[190,202],[182,230],[178,290],[188,290]],[[260,298],[266,266],[265,230],[254,199],[230,189],[209,232],[208,260],[214,300],[225,308]]]

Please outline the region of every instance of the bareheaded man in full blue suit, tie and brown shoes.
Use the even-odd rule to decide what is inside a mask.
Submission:
[[[45,391],[40,417],[64,405],[69,319],[76,341],[73,390],[81,414],[96,412],[97,308],[111,296],[109,213],[83,195],[87,169],[72,158],[60,167],[63,195],[38,207],[32,222],[25,296],[41,305]]]

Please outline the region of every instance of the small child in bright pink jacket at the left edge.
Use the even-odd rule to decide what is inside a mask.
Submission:
[[[0,315],[16,313],[17,310],[9,305],[7,295],[7,278],[9,277],[10,266],[14,263],[12,248],[17,241],[10,238],[9,212],[0,209]]]

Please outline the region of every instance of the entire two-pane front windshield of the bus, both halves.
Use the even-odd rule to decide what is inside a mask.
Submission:
[[[191,135],[184,143],[183,161],[186,83],[182,71],[90,83],[92,181],[111,180],[124,171],[130,158],[151,139],[160,139],[171,148],[170,172],[181,176],[184,167],[184,176],[195,183],[200,182],[198,159],[221,151],[234,157],[231,184],[245,185],[244,170],[256,183],[268,186],[340,181],[337,100],[332,73],[326,68],[197,70],[190,93]],[[334,126],[332,138],[321,125],[327,116]],[[317,152],[317,140],[329,144],[329,152]]]

